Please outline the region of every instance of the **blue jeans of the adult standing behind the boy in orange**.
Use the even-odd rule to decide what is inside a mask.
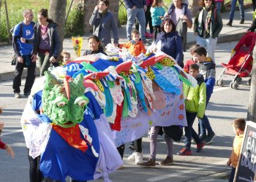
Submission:
[[[146,17],[143,8],[136,7],[135,9],[127,8],[127,39],[130,40],[132,26],[135,23],[135,18],[137,17],[140,24],[140,36],[143,41],[145,40],[145,30],[146,30]]]

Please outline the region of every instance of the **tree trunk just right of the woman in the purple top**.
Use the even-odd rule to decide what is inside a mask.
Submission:
[[[61,41],[61,51],[63,50],[66,7],[67,0],[50,0],[49,18],[59,25],[58,33]]]

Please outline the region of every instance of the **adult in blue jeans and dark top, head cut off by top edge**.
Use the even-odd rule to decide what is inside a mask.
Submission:
[[[127,9],[127,39],[131,40],[132,26],[135,23],[137,17],[140,24],[140,36],[143,42],[146,42],[145,30],[146,30],[146,17],[145,12],[147,9],[146,0],[124,0],[125,7]]]

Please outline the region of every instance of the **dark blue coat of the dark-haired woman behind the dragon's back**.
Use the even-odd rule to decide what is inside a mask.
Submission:
[[[173,57],[177,61],[178,65],[182,66],[182,42],[181,37],[178,35],[178,32],[160,32],[157,36],[156,44],[158,41],[161,41],[161,51]]]

